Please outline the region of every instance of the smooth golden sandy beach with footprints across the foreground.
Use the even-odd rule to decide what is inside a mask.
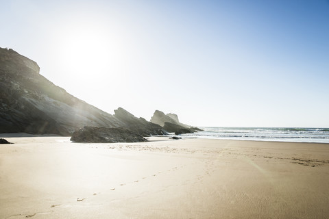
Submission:
[[[0,218],[329,218],[329,144],[5,139]]]

